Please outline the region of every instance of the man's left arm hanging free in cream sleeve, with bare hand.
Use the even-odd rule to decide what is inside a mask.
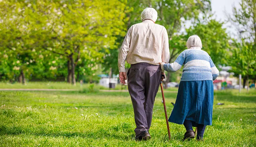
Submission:
[[[125,84],[125,80],[127,79],[126,72],[125,72],[125,59],[130,49],[131,36],[132,34],[131,34],[131,28],[130,28],[123,40],[123,43],[118,53],[119,80],[122,84]]]

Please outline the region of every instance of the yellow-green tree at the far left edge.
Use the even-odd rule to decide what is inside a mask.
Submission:
[[[36,27],[32,27],[34,25],[32,23],[34,22],[33,15],[23,11],[20,7],[25,7],[25,5],[15,3],[15,1],[0,2],[0,18],[2,20],[0,23],[0,50],[9,52],[9,57],[12,56],[12,60],[8,60],[14,66],[12,68],[12,65],[9,64],[11,67],[7,73],[9,79],[13,79],[10,76],[17,75],[19,71],[18,81],[24,84],[25,73],[29,73],[28,66],[34,62],[33,55],[36,54],[32,53],[35,46],[33,37],[31,37]],[[8,54],[4,54],[4,56],[8,58]]]

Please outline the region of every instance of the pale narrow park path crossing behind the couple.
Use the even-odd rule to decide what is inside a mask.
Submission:
[[[79,91],[78,89],[0,89],[0,91]],[[128,92],[128,90],[99,90],[100,92]],[[158,92],[161,92],[158,91]],[[164,91],[165,93],[177,93],[176,91]]]

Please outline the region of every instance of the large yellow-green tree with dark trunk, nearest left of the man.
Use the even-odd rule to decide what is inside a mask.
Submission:
[[[49,21],[45,37],[48,39],[40,46],[67,58],[68,78],[71,75],[75,85],[75,67],[79,60],[100,60],[104,56],[100,50],[113,46],[115,35],[124,31],[125,5],[117,0],[61,1],[48,9],[51,11],[45,14]],[[56,18],[59,21],[54,21]],[[92,63],[94,65],[96,63]]]

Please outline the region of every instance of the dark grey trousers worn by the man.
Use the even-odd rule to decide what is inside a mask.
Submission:
[[[134,131],[139,135],[151,126],[155,97],[161,82],[161,67],[149,63],[132,64],[127,77],[137,126]]]

